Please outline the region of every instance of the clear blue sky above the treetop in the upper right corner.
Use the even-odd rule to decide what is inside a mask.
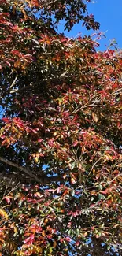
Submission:
[[[106,39],[100,41],[100,50],[105,50],[105,44],[109,45],[110,39],[116,39],[122,49],[122,0],[93,0],[89,3],[89,13],[94,14],[95,19],[100,22],[100,31],[105,32]],[[60,27],[60,32],[63,27]],[[82,24],[76,24],[71,32],[65,32],[69,37],[75,37],[81,32],[82,35],[91,35],[93,31],[87,32]]]

